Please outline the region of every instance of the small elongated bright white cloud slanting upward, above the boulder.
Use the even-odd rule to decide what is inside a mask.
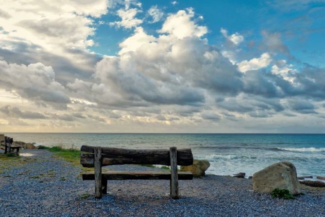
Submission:
[[[249,70],[258,70],[265,68],[272,62],[272,57],[269,53],[262,54],[259,58],[253,58],[249,61],[244,60],[238,63],[240,72],[247,72]]]

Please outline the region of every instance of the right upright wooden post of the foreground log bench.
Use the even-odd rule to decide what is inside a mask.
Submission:
[[[169,149],[171,156],[171,198],[179,199],[178,174],[177,174],[177,148]]]

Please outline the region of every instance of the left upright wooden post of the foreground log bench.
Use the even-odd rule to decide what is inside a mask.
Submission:
[[[95,167],[95,198],[102,198],[102,147],[95,147],[94,150]]]

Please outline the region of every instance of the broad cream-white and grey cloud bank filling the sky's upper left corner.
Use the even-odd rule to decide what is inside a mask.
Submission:
[[[107,13],[106,0],[17,0],[3,2],[0,56],[7,62],[51,66],[59,80],[89,78],[99,55],[87,50],[94,42],[93,19]],[[21,7],[21,5],[25,5]],[[76,72],[78,75],[76,75]]]

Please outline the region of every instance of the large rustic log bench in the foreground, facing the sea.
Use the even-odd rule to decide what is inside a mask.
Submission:
[[[94,167],[94,172],[82,174],[83,180],[95,180],[95,197],[107,194],[107,180],[170,180],[171,198],[179,199],[178,180],[192,180],[191,172],[178,172],[177,165],[192,165],[190,148],[171,147],[164,149],[123,149],[109,147],[81,147],[80,163],[84,167]],[[102,172],[102,166],[118,164],[159,164],[170,165],[171,171],[109,171]]]

